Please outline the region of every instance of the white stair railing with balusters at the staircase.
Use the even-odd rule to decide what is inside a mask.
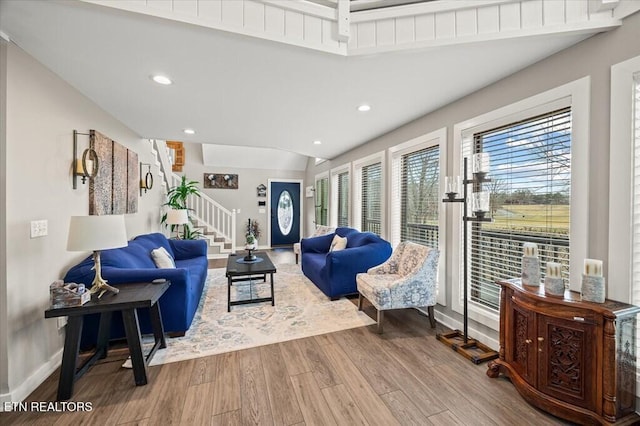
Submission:
[[[182,176],[171,173],[169,186],[180,185]],[[231,243],[231,252],[236,251],[236,210],[229,210],[216,202],[206,194],[200,193],[200,197],[190,195],[187,198],[187,208],[191,209],[192,216],[216,236]]]

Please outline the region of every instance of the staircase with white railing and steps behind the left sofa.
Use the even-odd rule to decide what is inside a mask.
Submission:
[[[160,179],[169,188],[180,184],[182,176],[171,171],[171,160],[165,141],[150,140],[155,151],[156,164],[160,168]],[[165,209],[166,207],[163,207]],[[225,257],[236,250],[236,211],[229,210],[206,194],[187,199],[190,216],[196,222],[196,228],[202,232],[202,238],[208,241],[209,258]]]

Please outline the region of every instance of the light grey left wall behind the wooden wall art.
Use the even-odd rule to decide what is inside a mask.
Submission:
[[[146,140],[17,46],[3,42],[2,56],[5,52],[6,126],[0,133],[6,144],[0,149],[6,155],[1,157],[0,203],[6,223],[0,225],[0,236],[7,250],[2,250],[6,268],[0,276],[0,401],[17,401],[61,359],[63,333],[55,319],[44,318],[49,284],[88,255],[66,251],[69,217],[89,211],[88,185],[72,189],[73,130],[98,130],[136,151],[141,162],[155,163]],[[80,139],[81,147],[87,143]],[[155,165],[152,171],[157,175]],[[160,185],[154,187],[139,199],[139,212],[126,215],[129,238],[158,229],[161,191]],[[49,235],[31,239],[30,221],[39,219],[48,220]]]

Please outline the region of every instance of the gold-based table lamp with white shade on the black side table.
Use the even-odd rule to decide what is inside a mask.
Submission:
[[[91,293],[98,293],[101,298],[106,291],[118,293],[102,278],[100,267],[100,250],[126,247],[127,231],[123,215],[105,216],[71,216],[69,222],[68,251],[93,251],[93,269],[96,277],[91,284]]]

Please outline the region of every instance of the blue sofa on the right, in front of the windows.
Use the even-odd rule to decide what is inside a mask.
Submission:
[[[347,238],[347,248],[329,252],[335,235]],[[341,227],[335,233],[303,238],[302,272],[331,300],[355,294],[356,275],[367,272],[391,256],[391,244],[371,232]]]

